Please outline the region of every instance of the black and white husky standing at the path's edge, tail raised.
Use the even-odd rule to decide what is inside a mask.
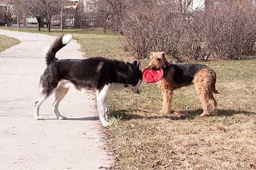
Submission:
[[[55,99],[51,103],[53,111],[59,120],[66,119],[60,115],[58,106],[73,85],[82,92],[89,90],[96,93],[98,115],[102,125],[107,126],[108,93],[127,87],[135,94],[140,94],[141,63],[137,65],[137,61],[129,63],[103,57],[58,60],[55,54],[67,45],[71,38],[71,35],[58,37],[46,53],[47,68],[40,79],[42,92],[35,101],[34,116],[36,120],[43,119],[39,116],[40,105],[55,93]]]

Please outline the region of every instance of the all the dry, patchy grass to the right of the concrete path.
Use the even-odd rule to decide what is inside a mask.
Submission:
[[[32,32],[31,28],[22,29]],[[133,61],[118,36],[100,31],[52,29],[50,35],[71,33],[81,44],[85,57]],[[148,61],[141,62],[142,68],[146,68]],[[216,88],[221,91],[214,95],[218,113],[206,118],[199,116],[203,109],[193,86],[175,91],[173,111],[167,115],[158,113],[162,94],[155,83],[143,82],[141,95],[127,89],[109,94],[113,124],[106,131],[108,147],[115,156],[114,169],[256,167],[256,59],[204,64],[216,71]]]

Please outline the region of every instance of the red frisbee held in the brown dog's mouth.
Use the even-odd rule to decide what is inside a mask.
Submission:
[[[150,68],[146,68],[142,71],[142,78],[147,83],[155,83],[158,82],[163,77],[163,70],[152,70]]]

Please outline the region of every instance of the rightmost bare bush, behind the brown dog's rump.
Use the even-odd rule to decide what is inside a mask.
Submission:
[[[199,16],[198,16],[199,15]],[[205,45],[216,59],[255,53],[255,7],[244,1],[221,1],[197,14],[202,23]]]

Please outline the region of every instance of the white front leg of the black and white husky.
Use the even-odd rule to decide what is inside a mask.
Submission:
[[[106,121],[106,107],[108,107],[107,103],[107,97],[108,97],[108,92],[105,90],[102,90],[99,94],[96,93],[97,95],[97,108],[98,108],[98,117],[100,117],[101,124],[103,126],[108,126],[108,122]]]

